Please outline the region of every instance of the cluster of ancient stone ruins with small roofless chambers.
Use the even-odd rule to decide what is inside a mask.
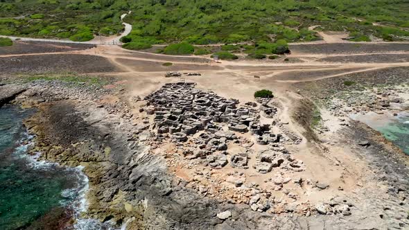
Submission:
[[[153,129],[157,139],[169,139],[189,145],[184,155],[188,159],[204,159],[211,168],[223,168],[228,163],[234,168],[253,167],[257,172],[268,173],[273,168],[287,167],[301,170],[299,162],[290,157],[281,142],[288,141],[284,134],[275,134],[270,124],[261,124],[261,114],[272,118],[275,107],[263,103],[245,103],[218,96],[212,91],[195,89],[194,83],[168,83],[146,96],[147,114],[154,115]],[[253,141],[239,138],[249,133]],[[189,142],[189,143],[188,143]],[[270,145],[264,152],[228,152],[229,143],[237,143],[248,150],[253,143]],[[186,146],[188,147],[188,146]],[[254,157],[254,166],[248,166]],[[302,164],[302,162],[301,162]]]

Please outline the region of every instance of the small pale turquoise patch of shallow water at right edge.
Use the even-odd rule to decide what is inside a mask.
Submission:
[[[409,154],[409,114],[401,114],[376,130]]]

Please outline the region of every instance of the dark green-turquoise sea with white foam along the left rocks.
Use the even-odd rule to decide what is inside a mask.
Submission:
[[[28,156],[31,136],[22,121],[29,114],[0,108],[0,229],[62,229],[75,215],[85,178],[78,168]]]

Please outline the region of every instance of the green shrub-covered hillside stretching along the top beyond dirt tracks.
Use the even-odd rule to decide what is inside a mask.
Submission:
[[[407,0],[1,0],[0,35],[84,41],[119,33],[128,10],[132,42],[148,44],[311,41],[313,25],[355,41],[409,37]]]

